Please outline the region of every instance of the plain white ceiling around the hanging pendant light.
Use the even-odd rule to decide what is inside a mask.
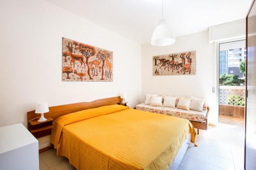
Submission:
[[[161,0],[47,0],[140,44],[162,17]],[[177,36],[246,17],[252,0],[163,0],[163,16]]]

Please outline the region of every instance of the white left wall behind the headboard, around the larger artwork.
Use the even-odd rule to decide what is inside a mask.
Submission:
[[[25,123],[37,102],[90,102],[141,94],[141,46],[47,1],[0,2],[0,127]],[[62,82],[62,37],[113,51],[113,82]]]

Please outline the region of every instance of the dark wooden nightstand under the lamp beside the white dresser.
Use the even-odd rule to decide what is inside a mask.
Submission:
[[[28,130],[35,138],[50,135],[52,132],[53,118],[48,117],[44,122],[37,122],[37,119],[31,120],[28,123]]]

